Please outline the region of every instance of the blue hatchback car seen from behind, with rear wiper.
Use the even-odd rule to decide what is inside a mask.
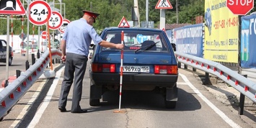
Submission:
[[[165,107],[175,109],[178,67],[166,33],[160,29],[110,27],[100,36],[103,40],[121,43],[122,31],[125,45],[122,61],[122,50],[100,45],[93,48],[89,104],[99,106],[102,94],[120,89],[122,83],[122,90],[162,92]]]

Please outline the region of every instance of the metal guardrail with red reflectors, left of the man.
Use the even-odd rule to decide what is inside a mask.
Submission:
[[[61,51],[52,49],[52,59],[61,58]],[[19,99],[27,93],[27,90],[37,81],[37,79],[43,74],[46,66],[50,63],[49,50],[31,65],[21,76],[15,79],[9,86],[6,86],[0,93],[0,119],[8,114],[8,111],[12,109]]]

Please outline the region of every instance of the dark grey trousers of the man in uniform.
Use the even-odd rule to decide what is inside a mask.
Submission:
[[[71,111],[79,111],[81,109],[79,102],[81,101],[82,84],[87,68],[87,60],[88,58],[85,55],[66,53],[64,78],[61,85],[58,106],[66,107],[69,91],[74,80]]]

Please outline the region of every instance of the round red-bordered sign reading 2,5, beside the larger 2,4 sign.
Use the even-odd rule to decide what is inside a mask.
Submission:
[[[58,29],[59,27],[61,27],[62,22],[63,17],[61,16],[61,14],[53,11],[49,19],[49,29]]]

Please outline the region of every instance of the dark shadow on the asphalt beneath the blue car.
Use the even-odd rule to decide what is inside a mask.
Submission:
[[[179,88],[176,109],[166,109],[164,96],[153,91],[123,91],[121,109],[146,109],[156,111],[195,111],[201,108],[200,102],[193,93]],[[91,107],[89,112],[105,111],[119,108],[119,91],[106,92],[102,96],[101,106]]]

